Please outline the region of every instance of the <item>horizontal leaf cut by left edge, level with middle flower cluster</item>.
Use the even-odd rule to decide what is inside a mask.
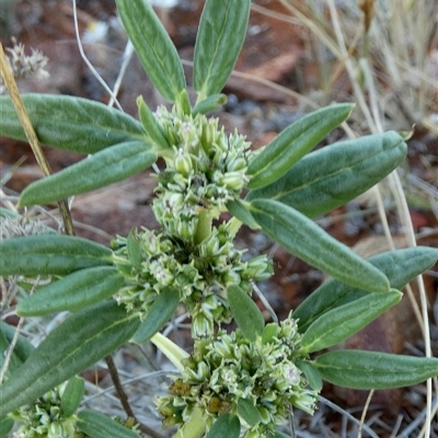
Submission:
[[[0,242],[0,275],[66,275],[111,265],[106,246],[71,235],[27,235]]]

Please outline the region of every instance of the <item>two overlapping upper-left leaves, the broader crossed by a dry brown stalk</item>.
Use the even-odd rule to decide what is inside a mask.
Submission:
[[[71,96],[22,96],[38,139],[79,153],[91,153],[66,170],[27,186],[20,206],[46,204],[103,187],[141,172],[157,161],[158,147],[148,141],[134,117],[103,104]],[[24,140],[9,96],[0,96],[0,134]]]

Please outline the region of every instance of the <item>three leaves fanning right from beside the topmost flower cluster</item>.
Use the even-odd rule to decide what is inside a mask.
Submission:
[[[256,188],[244,201],[230,201],[228,208],[243,222],[260,226],[275,242],[333,277],[370,292],[389,291],[382,273],[308,218],[365,192],[405,157],[402,137],[390,131],[339,142],[302,158],[348,116],[350,108],[334,105],[321,110],[281,132],[250,163],[250,187]]]

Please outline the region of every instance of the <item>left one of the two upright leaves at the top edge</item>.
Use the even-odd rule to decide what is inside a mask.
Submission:
[[[137,55],[157,90],[170,102],[185,88],[183,65],[148,0],[116,0]]]

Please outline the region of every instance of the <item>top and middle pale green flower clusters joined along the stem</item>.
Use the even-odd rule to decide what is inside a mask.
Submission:
[[[232,221],[212,226],[247,181],[250,143],[238,134],[227,136],[218,119],[187,115],[177,106],[171,112],[160,107],[155,118],[170,145],[166,168],[155,175],[152,207],[161,232],[137,234],[137,264],[129,258],[127,239],[113,243],[115,263],[126,277],[114,298],[145,318],[157,296],[173,287],[193,320],[193,336],[210,336],[215,323],[231,321],[229,286],[251,293],[251,283],[273,270],[265,256],[242,262],[243,252],[232,243]]]

